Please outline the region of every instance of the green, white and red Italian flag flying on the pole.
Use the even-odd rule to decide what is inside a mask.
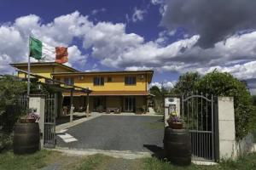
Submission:
[[[49,61],[55,61],[57,63],[67,62],[67,48],[65,47],[52,47],[48,44],[41,42],[40,40],[30,37],[29,40],[29,56],[35,59],[44,59]]]

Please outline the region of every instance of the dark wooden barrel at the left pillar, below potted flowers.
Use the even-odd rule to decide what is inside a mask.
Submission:
[[[16,123],[14,132],[14,153],[30,154],[39,150],[40,133],[38,122]]]

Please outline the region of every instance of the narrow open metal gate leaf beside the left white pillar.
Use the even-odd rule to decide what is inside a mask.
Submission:
[[[55,148],[55,115],[56,102],[55,94],[48,94],[45,97],[44,107],[44,147]]]

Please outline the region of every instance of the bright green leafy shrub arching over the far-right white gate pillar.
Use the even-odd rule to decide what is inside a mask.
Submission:
[[[244,82],[230,73],[213,71],[197,82],[198,90],[204,94],[234,97],[236,139],[249,132],[249,120],[253,116],[253,102]]]

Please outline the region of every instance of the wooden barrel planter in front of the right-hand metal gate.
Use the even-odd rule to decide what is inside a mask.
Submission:
[[[182,166],[189,165],[191,163],[191,140],[189,131],[166,127],[164,150],[168,161]]]

